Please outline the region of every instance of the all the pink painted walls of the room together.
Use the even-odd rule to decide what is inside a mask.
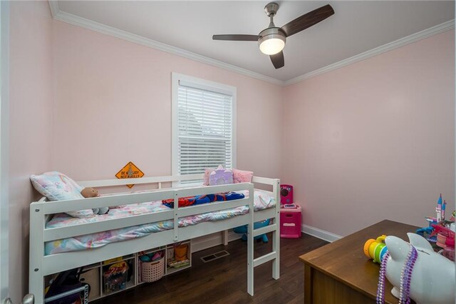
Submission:
[[[438,193],[454,202],[453,39],[281,88],[52,21],[46,1],[13,1],[13,300],[28,286],[28,177],[113,178],[128,161],[169,175],[173,71],[237,87],[238,168],[294,184],[305,224],[340,235],[383,218],[423,225]]]

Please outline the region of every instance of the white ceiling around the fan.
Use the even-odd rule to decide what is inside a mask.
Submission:
[[[288,81],[455,19],[454,1],[276,1],[283,26],[331,4],[333,16],[290,36],[285,66],[274,69],[257,42],[213,41],[213,34],[259,34],[269,1],[58,1],[60,11],[210,59]]]

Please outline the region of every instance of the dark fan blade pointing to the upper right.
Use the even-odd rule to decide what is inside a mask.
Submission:
[[[290,21],[289,23],[282,26],[281,30],[285,32],[285,35],[287,37],[289,37],[313,26],[314,24],[318,24],[318,22],[323,21],[333,14],[334,10],[331,5],[326,4],[325,6],[321,6],[319,9],[309,11],[309,13],[304,14],[294,19],[293,21]]]

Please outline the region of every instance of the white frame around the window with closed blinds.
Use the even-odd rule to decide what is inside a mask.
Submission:
[[[236,168],[237,164],[237,128],[236,128],[236,99],[237,89],[235,86],[228,86],[223,83],[217,83],[214,81],[207,81],[202,78],[196,78],[183,74],[172,73],[172,175],[179,176],[178,173],[178,145],[179,145],[179,126],[178,126],[178,88],[180,81],[186,83],[189,86],[200,88],[207,91],[214,91],[217,93],[224,93],[232,96],[232,166]],[[201,184],[201,183],[198,183]],[[173,186],[179,186],[173,183]]]

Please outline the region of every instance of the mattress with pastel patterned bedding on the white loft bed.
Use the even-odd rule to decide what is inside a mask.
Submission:
[[[243,193],[245,197],[249,196],[249,191],[237,191]],[[254,191],[254,210],[260,211],[274,207],[276,201],[269,193],[261,190]],[[112,208],[109,213],[93,216],[89,218],[73,218],[66,213],[58,213],[53,216],[51,221],[46,223],[46,228],[67,227],[83,223],[94,223],[99,221],[112,220],[116,218],[125,218],[127,216],[135,216],[140,214],[155,213],[160,211],[168,211],[169,207],[162,204],[162,201],[152,201],[147,203],[130,204],[122,208]],[[179,218],[178,225],[180,228],[197,225],[204,222],[222,221],[234,216],[240,216],[249,212],[249,206],[241,206],[237,208],[214,211],[209,213],[197,214],[195,216],[187,216]],[[100,248],[109,243],[115,243],[121,240],[130,240],[140,238],[150,233],[156,233],[173,228],[171,220],[160,221],[155,223],[146,223],[138,226],[130,226],[126,228],[118,228],[114,230],[102,231],[88,235],[79,235],[73,238],[64,238],[62,240],[53,240],[46,242],[45,255],[56,253],[65,253],[76,250],[86,250],[90,248]]]

